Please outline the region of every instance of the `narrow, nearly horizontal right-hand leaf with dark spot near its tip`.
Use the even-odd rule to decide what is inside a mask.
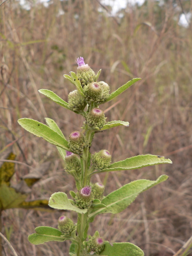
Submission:
[[[164,156],[156,155],[138,155],[126,158],[125,160],[110,164],[108,168],[96,172],[113,172],[123,170],[134,170],[145,166],[155,164],[172,164],[170,159],[165,159]],[[94,172],[94,173],[96,173]]]

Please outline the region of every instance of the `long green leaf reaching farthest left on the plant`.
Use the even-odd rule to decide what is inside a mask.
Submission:
[[[68,149],[68,141],[65,140],[59,133],[49,128],[47,125],[42,124],[36,120],[29,118],[21,118],[18,123],[28,132],[47,140],[53,145],[56,145],[65,150]]]

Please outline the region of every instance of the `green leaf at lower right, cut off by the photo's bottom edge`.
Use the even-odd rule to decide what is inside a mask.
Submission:
[[[105,243],[105,249],[100,252],[100,255],[107,256],[144,256],[144,252],[135,244],[131,243],[113,243],[113,246],[108,241]]]

